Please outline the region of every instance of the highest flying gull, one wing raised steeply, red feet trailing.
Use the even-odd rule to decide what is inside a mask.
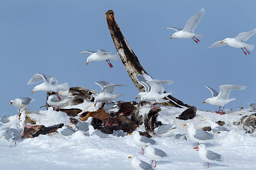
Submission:
[[[170,39],[174,37],[192,38],[196,43],[198,43],[200,40],[198,40],[196,37],[203,38],[204,36],[202,34],[195,34],[195,28],[198,26],[198,23],[200,22],[203,16],[204,16],[204,8],[202,8],[197,14],[191,17],[187,21],[186,26],[183,29],[176,28],[176,27],[165,27],[163,29],[173,29],[177,31],[172,35]]]

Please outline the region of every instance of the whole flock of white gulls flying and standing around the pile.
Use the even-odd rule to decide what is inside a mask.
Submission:
[[[195,34],[195,28],[198,26],[198,23],[200,22],[201,18],[204,16],[204,8],[202,8],[197,14],[195,14],[193,17],[191,17],[187,23],[186,26],[181,28],[175,28],[175,27],[166,27],[165,29],[173,29],[177,32],[175,32],[172,38],[192,38],[196,43],[200,42],[198,38],[202,38],[203,36],[201,34]],[[248,40],[253,34],[256,33],[256,29],[249,31],[249,32],[243,32],[240,33],[236,38],[226,38],[222,41],[215,42],[210,47],[220,47],[224,45],[230,45],[231,47],[235,48],[241,48],[244,51],[244,54],[250,54],[249,50],[253,50],[253,45],[247,45],[244,43],[244,41]],[[244,48],[244,49],[243,49]],[[106,60],[108,62],[108,65],[110,68],[113,67],[110,60],[117,60],[119,56],[111,55],[111,52],[105,51],[102,49],[99,49],[96,51],[83,51],[79,54],[90,54],[90,56],[87,58],[86,65],[91,61],[101,61]],[[29,81],[28,85],[35,84],[38,82],[43,82],[39,85],[36,85],[31,94],[35,91],[53,91],[55,94],[49,96],[47,103],[48,105],[52,106],[52,108],[60,109],[63,105],[70,102],[72,99],[74,99],[75,96],[62,96],[58,94],[58,91],[67,91],[69,89],[69,85],[67,82],[64,82],[62,84],[58,84],[58,81],[56,78],[45,75],[45,74],[35,74],[33,75]],[[173,83],[173,81],[170,80],[158,80],[158,79],[152,79],[147,74],[138,74],[137,75],[137,81],[143,85],[145,88],[144,92],[140,92],[136,99],[140,97],[140,102],[147,101],[151,103],[151,109],[157,109],[158,103],[162,102],[168,102],[169,100],[164,99],[165,97],[168,97],[172,93],[166,93],[165,89],[163,88],[163,84],[170,85]],[[94,100],[94,107],[98,103],[106,102],[104,109],[106,111],[109,111],[111,108],[119,109],[117,105],[109,104],[108,102],[112,102],[114,99],[118,98],[119,96],[122,96],[123,94],[115,94],[115,87],[116,86],[125,86],[125,85],[115,85],[110,82],[105,81],[97,81],[97,85],[101,87],[100,93],[95,97]],[[224,105],[227,103],[235,100],[235,98],[229,99],[230,91],[232,89],[234,90],[243,90],[246,87],[240,86],[240,85],[221,85],[219,86],[220,92],[216,92],[214,89],[210,88],[209,86],[206,86],[212,93],[212,97],[209,99],[206,99],[203,103],[209,103],[211,105],[218,105],[219,111],[216,111],[216,113],[220,113],[221,106],[224,110]],[[26,107],[29,105],[30,102],[33,102],[34,99],[31,97],[20,97],[17,99],[14,99],[10,101],[11,105],[17,107],[19,109],[19,115],[18,116],[3,116],[0,119],[0,123],[7,126],[7,130],[4,133],[5,139],[7,143],[11,146],[13,142],[20,139],[20,136],[22,135],[24,131],[24,122],[26,117]],[[23,109],[24,108],[24,109]],[[20,109],[23,109],[21,112]],[[223,110],[221,111],[221,114],[223,114]],[[21,112],[21,113],[20,113]],[[115,112],[115,111],[113,111]],[[111,111],[107,112],[111,113]],[[215,161],[222,161],[222,156],[218,153],[214,153],[210,150],[207,150],[206,146],[201,143],[205,143],[208,141],[211,141],[213,139],[216,139],[215,133],[218,133],[220,131],[230,131],[226,129],[225,127],[219,126],[217,123],[202,117],[203,120],[207,122],[211,128],[213,133],[205,132],[204,130],[195,128],[195,125],[190,122],[183,126],[187,126],[187,134],[189,136],[189,139],[198,142],[198,146],[194,147],[194,149],[199,150],[199,157],[208,163],[209,162],[215,162]],[[89,117],[87,121],[80,123],[76,126],[75,129],[71,129],[68,127],[62,127],[58,129],[58,133],[65,137],[69,138],[73,133],[76,133],[77,131],[81,131],[85,135],[92,136],[96,135],[100,138],[109,138],[114,136],[125,136],[125,133],[122,132],[122,130],[114,131],[113,135],[108,135],[105,133],[102,133],[99,130],[95,130],[93,126],[91,125],[92,117]],[[157,127],[154,130],[153,134],[157,134],[161,137],[168,137],[172,136],[173,133],[177,130],[176,125],[161,125],[160,127]],[[150,139],[145,136],[141,136],[138,131],[134,131],[133,133],[130,133],[129,135],[132,135],[132,139],[134,144],[136,144],[138,147],[142,149],[142,155],[144,155],[145,150],[145,156],[151,160],[151,164],[146,163],[145,161],[142,161],[138,158],[137,155],[131,155],[128,158],[131,158],[131,166],[134,168],[134,170],[151,170],[153,167],[151,166],[153,164],[153,161],[155,161],[154,167],[157,165],[157,161],[160,161],[164,159],[164,157],[167,156],[167,154],[160,149],[157,149],[153,147],[152,145],[157,144],[157,142],[154,139]],[[184,134],[178,134],[175,136],[175,138],[180,138],[183,136],[183,139],[186,140],[186,136]]]

